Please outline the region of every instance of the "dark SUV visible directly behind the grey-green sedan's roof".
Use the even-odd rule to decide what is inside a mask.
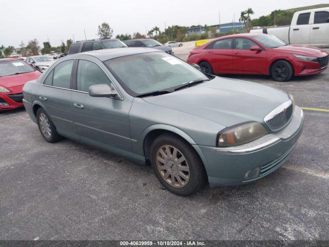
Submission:
[[[112,48],[123,48],[123,47],[127,47],[127,45],[118,39],[77,41],[70,45],[68,54],[71,55],[71,54],[76,54],[90,50],[101,50],[101,49],[112,49]]]

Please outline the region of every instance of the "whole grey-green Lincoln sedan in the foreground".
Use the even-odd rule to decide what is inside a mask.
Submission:
[[[291,95],[204,74],[150,48],[64,57],[23,92],[47,142],[65,136],[151,163],[181,196],[206,182],[263,178],[287,160],[303,125]]]

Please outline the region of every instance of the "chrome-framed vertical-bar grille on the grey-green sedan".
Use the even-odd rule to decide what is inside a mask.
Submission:
[[[293,102],[289,100],[270,112],[264,118],[264,121],[271,131],[278,131],[289,122],[291,116],[293,116],[293,111]]]

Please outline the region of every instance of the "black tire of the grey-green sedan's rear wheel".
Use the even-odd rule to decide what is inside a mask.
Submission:
[[[49,123],[49,130],[50,130],[50,135],[48,136],[45,128],[45,124],[43,123],[43,118],[46,118],[46,120]],[[39,108],[38,111],[36,111],[36,121],[38,122],[38,127],[40,130],[40,133],[42,137],[48,142],[48,143],[55,143],[58,142],[60,139],[62,139],[62,136],[60,136],[57,133],[56,127],[53,125],[53,122],[51,121],[50,117],[48,114],[45,112],[43,108]]]

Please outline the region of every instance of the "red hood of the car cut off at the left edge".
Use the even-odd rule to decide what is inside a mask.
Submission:
[[[41,73],[39,71],[19,74],[19,75],[12,75],[12,76],[5,76],[0,77],[0,86],[6,87],[6,89],[11,89],[15,86],[22,86],[26,82],[38,79]]]

